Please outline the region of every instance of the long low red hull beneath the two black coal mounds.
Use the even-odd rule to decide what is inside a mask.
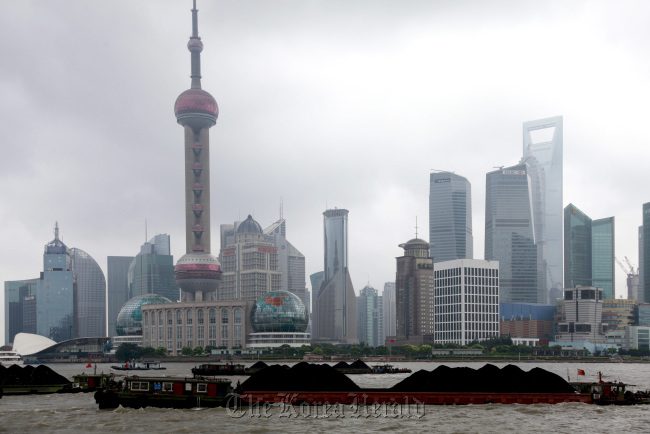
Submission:
[[[588,393],[490,393],[490,392],[244,392],[243,404],[560,404],[593,403]]]

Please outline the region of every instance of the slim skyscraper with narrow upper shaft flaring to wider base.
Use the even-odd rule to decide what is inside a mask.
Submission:
[[[323,213],[325,270],[313,297],[312,337],[317,342],[357,344],[357,306],[348,270],[348,210]]]

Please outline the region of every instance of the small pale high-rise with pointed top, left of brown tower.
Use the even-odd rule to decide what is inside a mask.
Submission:
[[[360,344],[384,344],[384,306],[379,292],[368,285],[357,297],[357,338]]]

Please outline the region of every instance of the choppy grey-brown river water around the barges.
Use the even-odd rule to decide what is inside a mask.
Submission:
[[[395,366],[432,370],[443,363],[396,363]],[[480,368],[485,362],[444,363],[448,366]],[[499,367],[507,363],[494,363]],[[513,363],[529,371],[541,367],[563,378],[577,379],[577,370],[585,371],[584,379],[597,379],[601,371],[607,380],[634,384],[631,390],[650,390],[650,364],[641,363]],[[72,375],[88,373],[84,363],[48,365],[71,379]],[[168,363],[165,371],[150,371],[151,376],[191,376],[193,363]],[[110,372],[109,364],[98,364],[97,372]],[[148,372],[140,373],[149,375]],[[119,377],[119,373],[117,374]],[[410,374],[352,375],[361,387],[390,387]],[[246,377],[231,377],[233,384]],[[581,380],[583,377],[581,377]],[[0,432],[441,432],[441,433],[582,433],[650,432],[650,406],[607,406],[590,404],[536,405],[460,405],[421,406],[420,408],[366,408],[364,412],[343,408],[328,412],[312,409],[306,414],[298,408],[271,406],[265,412],[232,414],[224,408],[172,410],[118,408],[98,410],[93,393],[4,396],[0,399]],[[234,417],[238,416],[238,417]]]

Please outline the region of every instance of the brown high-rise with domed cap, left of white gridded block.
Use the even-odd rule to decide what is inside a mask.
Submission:
[[[395,276],[395,336],[400,343],[421,345],[434,333],[433,259],[431,244],[414,238],[399,245],[404,256],[397,258]]]

